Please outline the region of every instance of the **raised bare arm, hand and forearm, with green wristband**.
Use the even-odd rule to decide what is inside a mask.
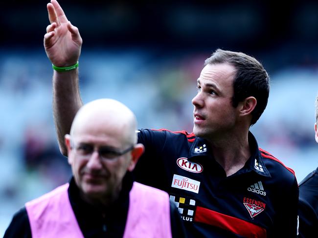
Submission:
[[[47,3],[50,24],[46,27],[44,47],[48,59],[57,67],[77,63],[82,38],[77,27],[68,21],[56,0]],[[78,88],[78,69],[53,73],[53,113],[61,153],[67,155],[64,135],[70,131],[72,120],[82,106]]]

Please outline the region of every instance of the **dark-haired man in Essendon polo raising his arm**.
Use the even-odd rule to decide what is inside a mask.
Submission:
[[[44,44],[56,66],[54,119],[65,154],[63,136],[81,105],[76,67],[82,40],[56,0],[47,9]],[[197,81],[193,133],[140,130],[145,153],[136,180],[169,193],[188,237],[296,237],[295,173],[258,148],[249,131],[267,105],[267,72],[246,54],[219,49]]]

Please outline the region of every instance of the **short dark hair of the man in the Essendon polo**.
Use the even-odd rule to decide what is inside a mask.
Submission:
[[[217,49],[211,57],[206,59],[204,65],[218,63],[228,63],[235,68],[233,107],[237,107],[240,101],[250,96],[257,100],[250,122],[251,125],[255,124],[264,112],[270,94],[270,77],[263,65],[242,52],[221,49]]]

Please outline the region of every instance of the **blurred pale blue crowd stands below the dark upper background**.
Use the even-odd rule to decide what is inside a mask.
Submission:
[[[67,158],[56,139],[52,68],[43,49],[0,51],[0,235],[24,202],[68,181]],[[192,131],[191,99],[212,52],[167,53],[139,48],[83,50],[85,102],[114,98],[136,114],[138,128]],[[262,56],[257,59],[262,61]],[[275,58],[275,57],[273,57]],[[266,57],[264,57],[266,59]],[[268,107],[251,131],[259,146],[295,170],[300,181],[318,164],[314,139],[318,67],[271,70]]]

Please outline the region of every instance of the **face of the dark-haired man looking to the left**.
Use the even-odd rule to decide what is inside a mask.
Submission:
[[[234,67],[206,65],[198,79],[198,94],[192,99],[196,136],[218,138],[235,126],[236,109],[232,106]]]

